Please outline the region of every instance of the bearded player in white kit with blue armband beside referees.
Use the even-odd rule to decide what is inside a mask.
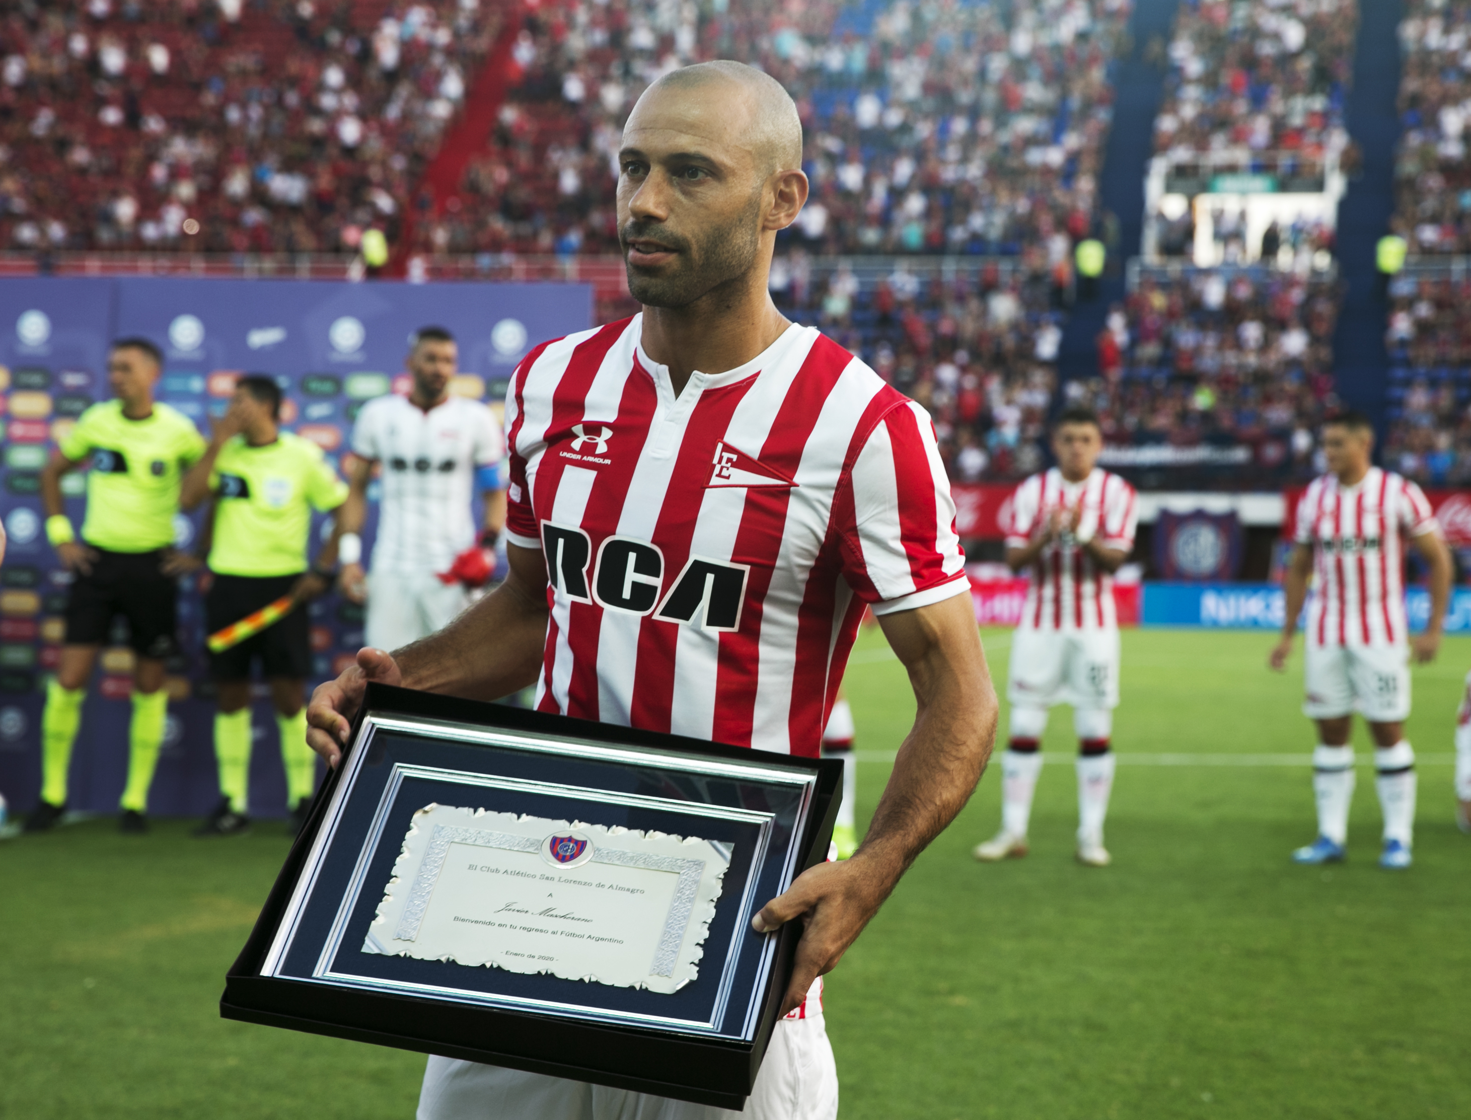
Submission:
[[[341,589],[368,602],[365,639],[397,649],[444,627],[471,603],[457,578],[443,578],[475,543],[471,497],[484,492],[480,546],[494,550],[506,524],[502,459],[506,440],[494,414],[478,400],[450,394],[459,352],[443,327],[425,327],[409,352],[413,387],[369,400],[353,425],[352,492],[343,506]],[[372,574],[362,568],[368,483],[382,467],[382,508]]]

